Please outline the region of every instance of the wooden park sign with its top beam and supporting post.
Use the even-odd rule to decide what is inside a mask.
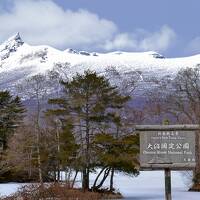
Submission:
[[[141,170],[165,171],[165,199],[171,200],[171,170],[196,166],[196,131],[199,125],[138,125]]]

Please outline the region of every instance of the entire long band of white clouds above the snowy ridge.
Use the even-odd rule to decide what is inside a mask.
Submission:
[[[11,0],[10,0],[11,1]],[[0,41],[20,32],[29,44],[103,50],[167,50],[176,36],[167,25],[157,32],[120,33],[117,25],[87,10],[64,10],[52,0],[13,0],[0,12]]]

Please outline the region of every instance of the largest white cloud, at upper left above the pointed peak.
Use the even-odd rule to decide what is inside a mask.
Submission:
[[[56,47],[88,46],[111,38],[116,25],[86,10],[63,10],[51,0],[14,2],[14,7],[0,14],[0,40],[15,32],[31,44]]]

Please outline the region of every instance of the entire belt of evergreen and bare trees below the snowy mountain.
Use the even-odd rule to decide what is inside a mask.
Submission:
[[[140,109],[130,103],[140,74],[122,81],[115,68],[106,73],[121,85],[111,85],[91,71],[70,80],[51,72],[18,85],[25,101],[0,92],[2,182],[37,182],[41,187],[65,183],[75,188],[81,174],[83,191],[101,191],[109,180],[106,191],[112,193],[115,173],[139,174],[135,124],[200,123],[200,65],[156,80],[157,87],[144,95]],[[200,188],[199,133],[196,141],[193,189]]]

